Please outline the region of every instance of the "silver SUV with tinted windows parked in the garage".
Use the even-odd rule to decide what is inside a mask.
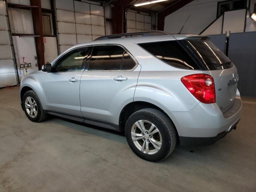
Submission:
[[[224,137],[241,117],[234,64],[207,36],[151,31],[75,45],[25,76],[26,116],[48,114],[125,131],[132,151],[160,161]]]

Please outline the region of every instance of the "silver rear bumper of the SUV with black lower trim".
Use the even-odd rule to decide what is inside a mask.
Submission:
[[[242,102],[240,97],[236,97],[239,105],[234,105],[230,112],[221,112],[216,103],[199,103],[188,112],[170,112],[170,116],[180,137],[182,146],[200,146],[213,144],[220,138],[226,136],[231,130],[236,128],[241,114]]]

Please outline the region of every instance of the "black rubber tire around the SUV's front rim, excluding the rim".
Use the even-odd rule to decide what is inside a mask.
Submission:
[[[36,107],[37,107],[37,115],[36,117],[32,118],[28,112],[26,111],[26,107],[25,107],[25,100],[26,98],[30,96],[31,98],[33,98],[33,100],[35,100],[36,102]],[[37,94],[33,91],[33,90],[30,90],[30,91],[27,91],[23,98],[22,98],[22,107],[24,109],[24,112],[26,114],[26,116],[29,118],[30,121],[33,121],[33,122],[41,122],[43,120],[45,120],[47,118],[47,114],[46,112],[44,111],[44,109],[42,108],[42,104],[37,96]]]

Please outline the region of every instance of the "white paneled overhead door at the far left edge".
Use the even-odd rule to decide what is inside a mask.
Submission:
[[[8,26],[6,2],[0,0],[0,88],[18,84]]]

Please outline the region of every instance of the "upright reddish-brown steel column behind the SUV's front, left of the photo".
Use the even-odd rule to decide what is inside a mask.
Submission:
[[[38,69],[41,70],[44,65],[44,34],[43,34],[43,21],[42,21],[42,8],[41,0],[30,0],[31,6],[38,6],[37,8],[31,9],[33,24],[34,24],[34,35],[36,41],[36,53]]]

